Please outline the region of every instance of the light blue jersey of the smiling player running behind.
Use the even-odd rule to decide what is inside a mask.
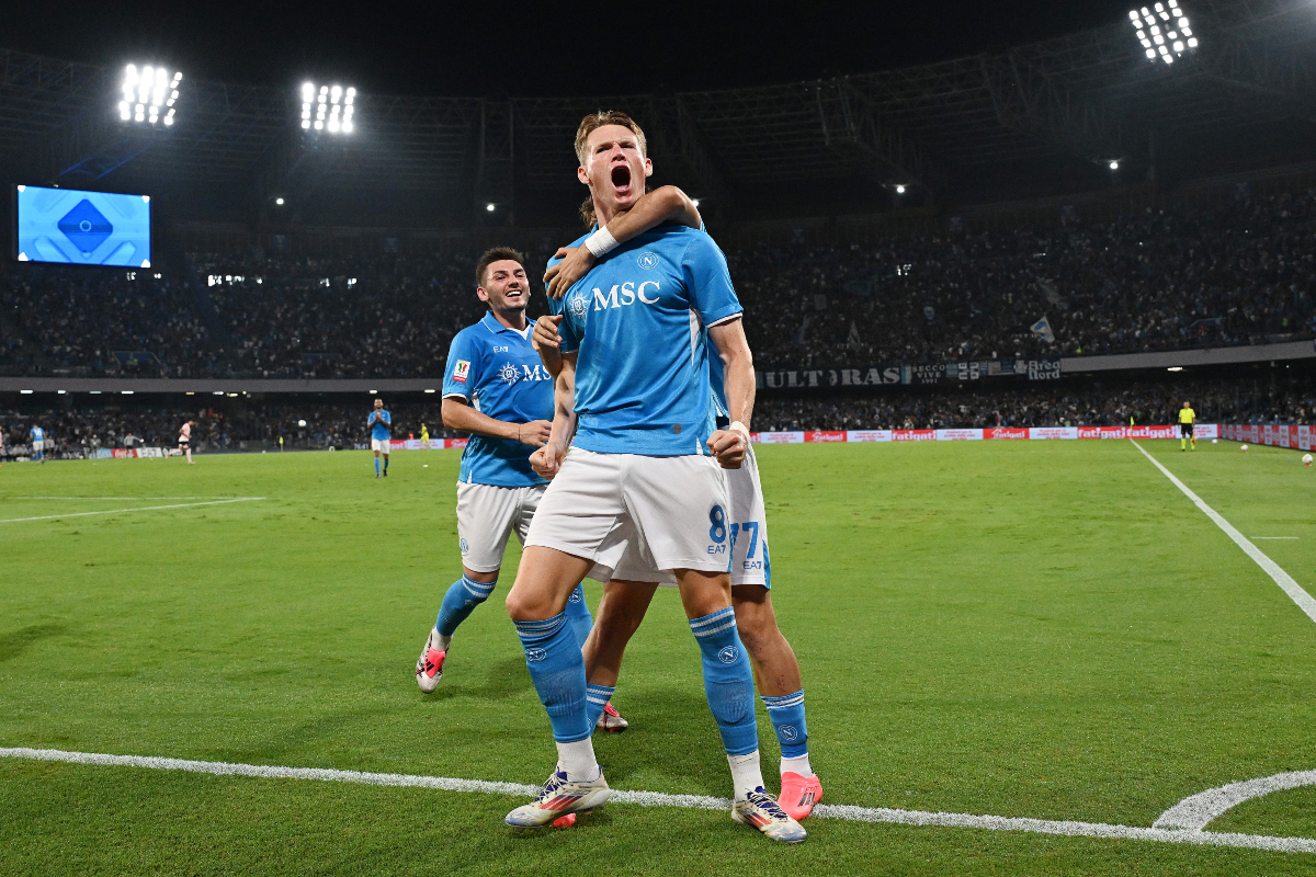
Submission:
[[[553,376],[530,346],[530,331],[508,329],[484,314],[453,338],[443,373],[443,398],[461,397],[482,414],[508,423],[553,419]],[[530,468],[529,444],[471,435],[458,476],[463,484],[520,488],[546,484]]]

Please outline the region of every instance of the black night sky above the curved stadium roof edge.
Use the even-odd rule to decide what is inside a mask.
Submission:
[[[945,60],[1117,24],[1128,0],[924,3],[51,3],[4,13],[0,46],[163,62],[263,85],[570,96],[788,83]]]

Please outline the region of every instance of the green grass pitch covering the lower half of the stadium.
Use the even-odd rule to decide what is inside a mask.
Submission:
[[[1299,454],[1144,442],[1316,592]],[[826,803],[1150,826],[1316,768],[1316,625],[1128,442],[761,447],[774,602]],[[553,765],[500,586],[442,686],[412,667],[461,575],[457,451],[0,468],[0,747],[540,784]],[[75,497],[75,498],[41,498]],[[96,498],[132,497],[132,498]],[[161,500],[157,497],[207,497]],[[222,505],[79,513],[263,497]],[[62,515],[62,517],[47,517]],[[14,518],[45,518],[12,521]],[[591,604],[597,585],[587,582]],[[699,651],[661,590],[596,739],[609,782],[729,794]],[[778,747],[759,707],[765,774]],[[1316,855],[0,759],[3,874],[1307,874]],[[1316,789],[1212,831],[1316,838]]]

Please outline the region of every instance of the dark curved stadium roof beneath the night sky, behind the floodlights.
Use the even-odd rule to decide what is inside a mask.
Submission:
[[[950,201],[1073,191],[1101,185],[1112,160],[1129,180],[1153,167],[1165,178],[1313,158],[1316,9],[1184,5],[1202,47],[1174,64],[1148,62],[1121,20],[999,54],[788,85],[362,93],[357,131],[332,139],[304,137],[297,83],[186,80],[178,124],[147,130],[118,120],[120,70],[0,50],[0,158],[14,181],[174,189],[247,209],[275,196],[355,214],[412,205],[459,222],[486,204],[497,221],[524,221],[576,202],[571,139],[599,108],[641,121],[659,181],[745,216],[880,209],[896,184]]]

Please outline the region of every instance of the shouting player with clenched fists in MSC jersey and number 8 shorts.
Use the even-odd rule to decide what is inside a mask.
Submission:
[[[576,155],[578,178],[604,224],[640,200],[653,174],[644,133],[621,113],[587,116]],[[665,226],[616,254],[563,300],[553,433],[534,454],[554,480],[507,598],[553,724],[558,767],[538,798],[507,822],[545,826],[611,795],[590,740],[584,663],[563,632],[563,607],[576,579],[611,579],[632,550],[679,582],[732,769],[732,817],[774,840],[800,841],[804,830],[763,789],[753,672],[730,601],[729,500],[719,463],[740,465],[749,450],[740,421],[753,409],[754,367],[741,306],[707,234]],[[713,427],[709,341],[728,356],[728,430]]]

